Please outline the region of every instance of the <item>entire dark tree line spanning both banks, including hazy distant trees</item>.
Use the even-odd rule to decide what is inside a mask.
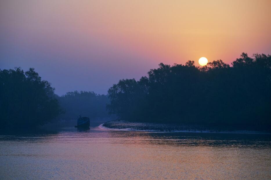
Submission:
[[[109,117],[132,122],[259,127],[271,125],[271,56],[242,53],[221,60],[160,63],[147,76],[121,79],[107,95],[68,92],[59,97],[30,68],[0,69],[0,128],[34,127],[55,120]],[[107,109],[107,111],[106,111]]]

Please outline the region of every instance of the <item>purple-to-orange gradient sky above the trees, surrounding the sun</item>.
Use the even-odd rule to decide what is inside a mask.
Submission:
[[[271,54],[271,1],[0,0],[0,68],[35,68],[55,93],[107,94],[160,62]]]

